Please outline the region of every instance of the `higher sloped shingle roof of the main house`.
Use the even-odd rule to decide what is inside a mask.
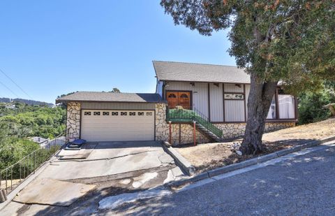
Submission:
[[[158,80],[250,83],[250,75],[237,66],[153,61]]]

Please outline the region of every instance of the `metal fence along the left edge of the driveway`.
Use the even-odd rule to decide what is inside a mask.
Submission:
[[[0,171],[0,192],[3,190],[6,195],[10,194],[17,186],[19,186],[29,175],[42,166],[45,161],[50,159],[62,145],[66,143],[63,134],[56,138],[40,143],[40,148],[31,152],[27,156],[17,161],[15,164],[8,166]]]

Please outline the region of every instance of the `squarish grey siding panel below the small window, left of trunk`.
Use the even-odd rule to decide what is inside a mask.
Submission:
[[[225,101],[225,122],[244,122],[244,101]]]

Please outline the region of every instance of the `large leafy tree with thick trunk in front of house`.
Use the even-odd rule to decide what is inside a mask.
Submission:
[[[175,24],[210,36],[229,29],[229,50],[251,76],[241,151],[262,152],[265,120],[278,82],[301,90],[334,79],[333,0],[161,0]]]

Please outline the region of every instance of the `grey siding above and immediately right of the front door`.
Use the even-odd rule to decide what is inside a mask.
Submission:
[[[168,82],[165,90],[173,91],[192,91],[192,106],[199,110],[202,114],[208,115],[208,84],[204,82],[195,82],[192,86],[190,82]]]

